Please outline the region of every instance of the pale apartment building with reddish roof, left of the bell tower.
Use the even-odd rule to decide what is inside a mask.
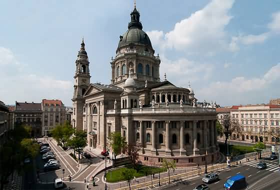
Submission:
[[[43,114],[41,135],[48,135],[50,130],[57,124],[63,124],[65,106],[59,99],[43,99],[41,102]]]

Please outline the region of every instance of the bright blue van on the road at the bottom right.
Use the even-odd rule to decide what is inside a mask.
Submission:
[[[223,184],[223,187],[226,190],[243,189],[246,186],[246,179],[243,175],[240,174],[229,177]]]

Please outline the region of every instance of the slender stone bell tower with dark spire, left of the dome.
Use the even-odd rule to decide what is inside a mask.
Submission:
[[[84,48],[83,38],[75,64],[76,70],[74,74],[74,92],[73,98],[71,99],[73,104],[72,126],[77,130],[82,130],[82,113],[85,102],[83,95],[90,83],[89,61]]]

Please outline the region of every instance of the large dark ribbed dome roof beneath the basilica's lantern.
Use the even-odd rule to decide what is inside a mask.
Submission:
[[[138,27],[130,27],[120,36],[117,48],[130,43],[139,43],[152,48],[148,35]]]

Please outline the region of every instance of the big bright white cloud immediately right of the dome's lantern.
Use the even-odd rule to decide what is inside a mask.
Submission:
[[[213,47],[225,45],[224,27],[231,19],[228,10],[232,4],[233,0],[212,0],[204,8],[177,22],[171,31],[163,34],[163,31],[153,30],[147,33],[152,42],[161,44],[162,48],[192,51],[211,49],[211,53]]]

